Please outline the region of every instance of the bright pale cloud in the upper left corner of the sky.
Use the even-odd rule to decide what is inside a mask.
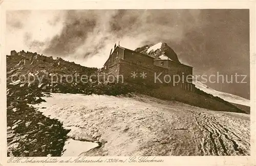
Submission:
[[[42,52],[45,47],[38,47],[35,45],[36,41],[44,42],[46,46],[61,31],[63,13],[65,12],[50,10],[7,11],[6,54],[13,49]],[[54,19],[57,21],[51,24]]]

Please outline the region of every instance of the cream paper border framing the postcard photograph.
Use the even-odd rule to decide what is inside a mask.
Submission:
[[[1,3],[1,2],[0,2]],[[0,57],[0,92],[1,92],[1,164],[22,165],[22,163],[7,163],[6,157],[6,55],[5,53],[5,30],[6,10],[66,10],[66,9],[250,9],[250,99],[251,99],[251,156],[163,156],[157,157],[165,160],[164,163],[136,163],[141,165],[256,165],[255,162],[255,7],[254,1],[4,1],[0,4],[1,9],[1,57]],[[35,157],[47,158],[47,157]],[[56,157],[69,159],[69,157]],[[98,157],[90,157],[98,158]],[[102,157],[106,158],[106,157]],[[108,156],[108,158],[110,158]],[[127,157],[118,157],[127,158]],[[36,163],[23,163],[25,165],[41,165]],[[44,163],[44,165],[58,165],[60,163]],[[88,163],[76,163],[88,165]],[[90,163],[94,165],[95,163]],[[108,163],[104,163],[108,164]],[[135,163],[123,163],[135,165]],[[74,165],[63,163],[61,165]],[[102,164],[100,164],[102,165]],[[120,163],[109,163],[120,165]]]

